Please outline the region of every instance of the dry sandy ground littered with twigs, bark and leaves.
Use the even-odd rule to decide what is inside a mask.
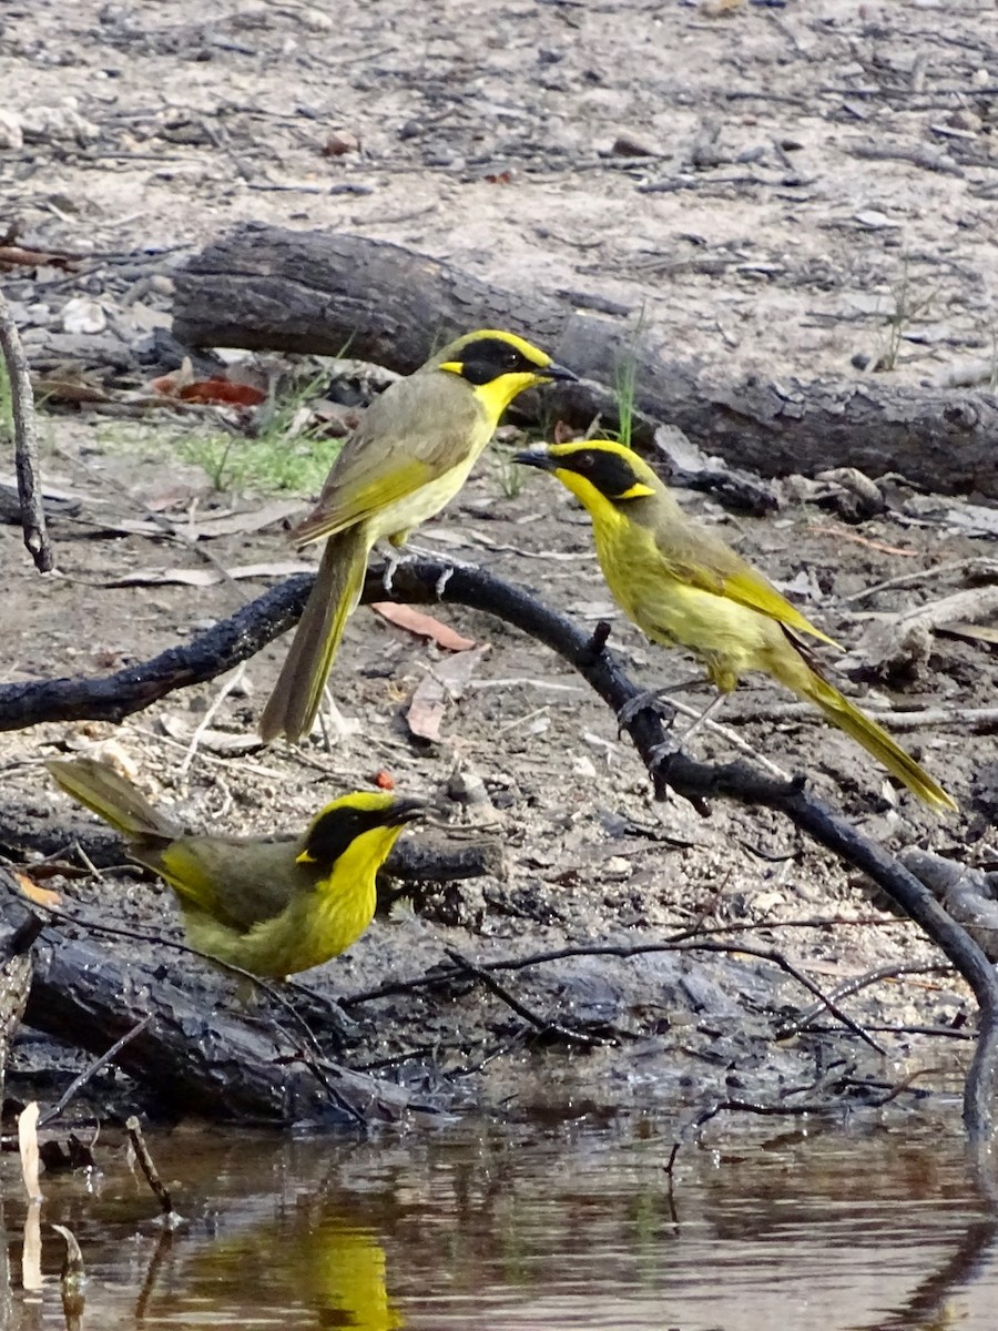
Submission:
[[[21,244],[84,260],[69,273],[15,269],[4,290],[37,367],[116,393],[162,369],[153,334],[169,323],[173,265],[229,225],[259,218],[393,240],[578,305],[612,302],[676,354],[814,375],[858,374],[880,358],[900,382],[934,379],[967,358],[987,361],[994,347],[994,17],[983,3],[943,11],[846,0],[747,4],[727,17],[707,5],[479,0],[369,0],[335,13],[244,5],[210,23],[186,0],[9,9],[0,28],[0,134],[7,124],[9,141],[0,221],[16,224]],[[68,302],[90,313],[96,305],[102,327],[80,331]],[[258,495],[212,492],[177,461],[177,433],[166,418],[125,427],[92,411],[47,415],[47,476],[101,523],[142,519],[149,506],[192,520],[262,506]],[[688,662],[613,615],[588,526],[560,491],[534,475],[510,488],[498,454],[487,458],[422,543],[480,562],[582,622],[611,618],[640,680],[688,677]],[[760,522],[684,498],[846,644],[869,614],[962,586],[959,568],[934,572],[939,566],[993,550],[951,523],[898,510],[846,526],[789,504]],[[141,660],[263,586],[110,586],[137,570],[205,564],[146,535],[57,535],[63,576],[39,582],[16,528],[0,530],[9,680]],[[226,566],[287,558],[278,526],[214,539],[210,551]],[[854,599],[918,571],[929,572],[922,583]],[[43,817],[53,800],[40,757],[113,740],[146,788],[192,823],[246,831],[297,827],[331,788],[370,783],[379,769],[401,789],[438,795],[455,763],[470,765],[495,805],[488,831],[507,847],[508,877],[431,894],[415,914],[375,924],[329,968],[338,993],[418,976],[444,946],[494,958],[653,941],[695,921],[756,922],[757,945],[780,948],[825,986],[890,961],[933,960],[912,926],[889,917],[786,928],[876,912],[858,882],[773,816],[720,807],[704,820],[681,800],[653,807],[613,717],[556,660],[487,616],[440,618],[491,650],[448,707],[438,743],[414,740],[405,720],[435,650],[362,611],[334,681],[358,729],[331,752],[318,740],[305,761],[202,747],[180,775],[193,725],[217,699],[218,685],[208,685],[114,731],[47,725],[4,736],[5,791]],[[250,663],[218,704],[214,729],[251,731],[282,652],[278,643]],[[998,753],[993,735],[959,723],[993,699],[994,684],[993,647],[937,638],[921,671],[874,685],[905,708],[938,703],[954,716],[904,740],[963,805],[946,821],[898,799],[844,736],[777,717],[770,704],[781,699],[760,681],[727,720],[770,760],[808,771],[890,845],[994,866],[987,772]],[[695,747],[725,757],[731,743],[704,733]],[[80,882],[72,893],[88,909],[113,906],[122,920],[176,933],[169,896],[126,884]],[[564,1109],[583,1087],[604,1106],[697,1099],[732,1077],[765,1094],[773,1078],[816,1074],[829,1047],[845,1044],[808,1036],[773,1046],[774,1020],[809,998],[758,960],[582,958],[518,984],[544,1016],[604,1024],[627,1042],[585,1058],[547,1055],[535,1077],[522,1021],[474,990],[361,1005],[355,1016],[377,1020],[362,1025],[355,1061],[390,1059],[406,1074],[428,1059],[436,1074],[488,1059],[460,1081],[472,1101],[512,1094]],[[965,1002],[949,984],[925,981],[868,992],[854,1012],[872,1024],[945,1026]],[[890,1061],[868,1054],[864,1070],[938,1066],[950,1042],[942,1055],[939,1042],[926,1049],[904,1034],[889,1047]],[[862,1061],[852,1037],[842,1057]]]

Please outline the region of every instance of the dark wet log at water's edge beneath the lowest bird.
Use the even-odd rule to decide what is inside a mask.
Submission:
[[[4,924],[24,908],[8,897]],[[153,1020],[114,1062],[152,1090],[164,1111],[241,1123],[327,1126],[398,1118],[406,1093],[339,1065],[317,1063],[286,1014],[267,1028],[259,1013],[213,1005],[162,968],[122,961],[49,928],[35,945],[24,1022],[92,1054],[102,1054],[149,1013]],[[345,1107],[345,1106],[349,1106]]]

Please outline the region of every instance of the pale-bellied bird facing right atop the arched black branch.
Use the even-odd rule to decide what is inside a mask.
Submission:
[[[451,342],[367,407],[318,504],[291,532],[299,547],[325,539],[326,548],[259,720],[265,740],[311,729],[373,546],[385,538],[405,544],[454,498],[519,393],[574,378],[523,338],[484,329]]]

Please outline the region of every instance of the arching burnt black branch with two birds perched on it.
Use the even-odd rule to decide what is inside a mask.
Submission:
[[[53,720],[121,720],[177,688],[214,679],[289,630],[301,615],[310,586],[307,575],[293,578],[193,642],[102,679],[0,685],[0,729]],[[563,656],[615,713],[641,692],[605,650],[601,634],[583,632],[527,592],[478,568],[430,560],[405,563],[395,570],[390,592],[382,570],[374,568],[367,575],[363,600],[450,602],[496,615]],[[998,977],[981,948],[931,892],[884,847],[812,795],[805,777],[776,781],[743,761],[700,763],[675,745],[669,749],[659,717],[648,709],[639,711],[625,728],[659,799],[672,789],[701,809],[716,799],[774,809],[818,845],[866,873],[929,934],[970,985],[981,1009],[963,1117],[971,1135],[990,1133],[998,1062]]]

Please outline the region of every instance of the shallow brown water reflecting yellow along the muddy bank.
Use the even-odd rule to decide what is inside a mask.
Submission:
[[[124,1147],[44,1179],[43,1288],[20,1283],[25,1206],[4,1155],[4,1326],[63,1327],[68,1225],[89,1282],[76,1324],[117,1327],[838,1331],[998,1324],[998,1222],[958,1122],[725,1135],[664,1123],[468,1125],[366,1142],[150,1137],[186,1225],[161,1234]]]

